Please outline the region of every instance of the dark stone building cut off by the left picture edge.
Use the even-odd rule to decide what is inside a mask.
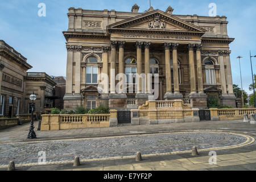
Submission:
[[[0,117],[23,114],[27,70],[26,57],[0,40]]]

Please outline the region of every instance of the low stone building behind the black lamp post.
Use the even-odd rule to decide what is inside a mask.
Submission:
[[[31,113],[30,95],[32,92],[36,95],[35,112],[36,113],[46,113],[53,107],[53,102],[55,98],[53,97],[53,88],[56,82],[53,78],[46,73],[41,72],[27,72],[26,76],[26,92],[23,105],[24,113]]]

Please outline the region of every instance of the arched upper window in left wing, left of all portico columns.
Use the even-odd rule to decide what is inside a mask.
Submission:
[[[85,60],[86,63],[86,84],[97,84],[98,83],[98,60],[94,56],[90,56]],[[96,65],[95,65],[96,64]]]

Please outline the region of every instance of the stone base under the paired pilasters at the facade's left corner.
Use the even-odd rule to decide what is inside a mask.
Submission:
[[[63,97],[64,109],[75,109],[77,106],[81,107],[81,94],[66,93]]]

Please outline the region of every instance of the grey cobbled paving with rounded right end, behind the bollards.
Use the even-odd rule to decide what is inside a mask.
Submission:
[[[251,141],[251,139],[250,139]],[[244,135],[231,133],[188,132],[152,135],[133,135],[77,140],[56,140],[0,144],[0,166],[10,160],[15,164],[38,163],[38,152],[46,152],[46,162],[65,162],[79,156],[80,159],[113,158],[118,156],[163,154],[167,152],[228,147],[248,141]]]

